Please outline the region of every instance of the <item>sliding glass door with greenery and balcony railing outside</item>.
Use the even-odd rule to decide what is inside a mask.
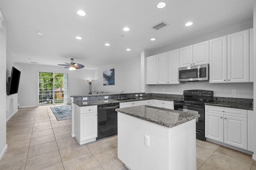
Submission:
[[[39,72],[39,105],[68,103],[68,74]]]

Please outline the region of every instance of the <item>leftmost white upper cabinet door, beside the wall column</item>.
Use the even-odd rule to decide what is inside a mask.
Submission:
[[[147,84],[158,83],[158,55],[147,57]]]

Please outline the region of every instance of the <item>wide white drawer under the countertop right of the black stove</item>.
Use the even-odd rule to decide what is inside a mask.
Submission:
[[[247,110],[244,110],[244,109],[234,109],[234,108],[228,108],[228,107],[218,107],[218,106],[206,105],[205,111],[210,112],[210,113],[217,113],[217,114],[247,118]]]

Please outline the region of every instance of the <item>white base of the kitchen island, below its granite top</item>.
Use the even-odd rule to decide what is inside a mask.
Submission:
[[[118,112],[118,158],[131,170],[196,170],[196,119],[168,128]]]

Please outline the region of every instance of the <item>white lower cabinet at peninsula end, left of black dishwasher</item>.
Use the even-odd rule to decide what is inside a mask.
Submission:
[[[96,141],[97,106],[74,105],[74,133],[80,145]]]

